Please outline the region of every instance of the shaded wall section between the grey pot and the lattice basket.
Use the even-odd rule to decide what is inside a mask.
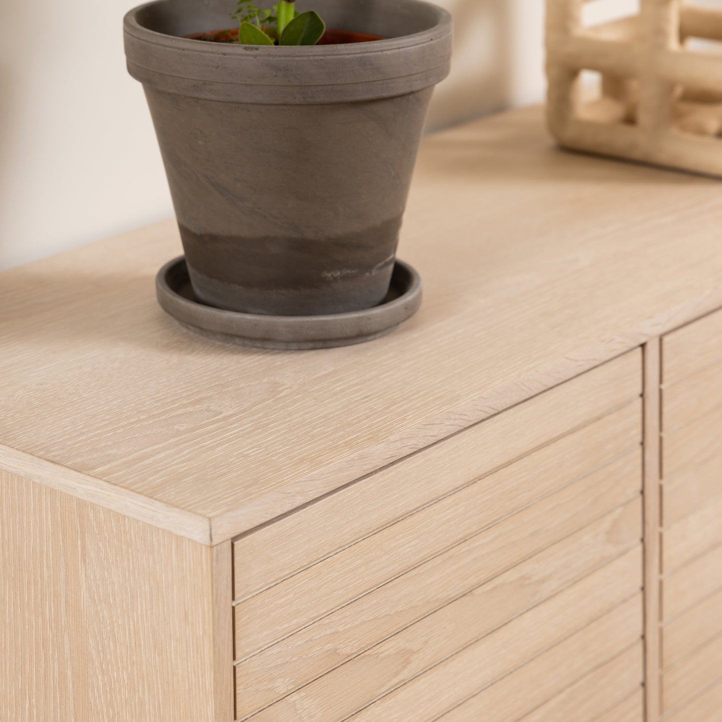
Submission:
[[[434,0],[456,27],[451,76],[438,87],[427,129],[436,131],[541,100],[543,0]]]

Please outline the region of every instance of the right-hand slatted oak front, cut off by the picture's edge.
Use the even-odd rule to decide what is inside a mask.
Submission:
[[[717,721],[710,700],[721,699],[722,682],[722,312],[669,334],[662,357],[662,711],[677,722]]]

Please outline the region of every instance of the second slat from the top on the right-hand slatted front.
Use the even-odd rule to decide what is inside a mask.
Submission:
[[[722,362],[664,386],[664,431],[673,430],[722,405]]]

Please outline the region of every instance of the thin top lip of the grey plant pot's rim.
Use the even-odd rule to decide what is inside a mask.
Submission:
[[[183,53],[194,53],[197,55],[218,56],[247,56],[253,53],[256,58],[273,59],[294,58],[339,58],[347,56],[369,55],[373,53],[388,53],[388,51],[404,50],[414,48],[416,45],[424,45],[432,40],[440,40],[453,32],[453,19],[451,13],[442,7],[425,0],[398,0],[402,5],[423,6],[436,14],[437,22],[427,30],[399,35],[396,38],[374,40],[371,43],[349,43],[346,45],[236,45],[224,43],[222,52],[219,51],[219,43],[212,43],[209,40],[196,40],[184,38],[181,35],[169,35],[166,32],[151,30],[138,21],[138,16],[146,9],[154,5],[165,4],[166,0],[150,0],[129,10],[123,17],[123,30],[136,40],[165,46],[174,51]],[[334,28],[336,29],[336,28]]]

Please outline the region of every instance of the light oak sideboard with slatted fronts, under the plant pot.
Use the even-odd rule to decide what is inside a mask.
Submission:
[[[427,139],[412,321],[165,316],[172,222],[0,274],[0,719],[718,722],[722,184]]]

